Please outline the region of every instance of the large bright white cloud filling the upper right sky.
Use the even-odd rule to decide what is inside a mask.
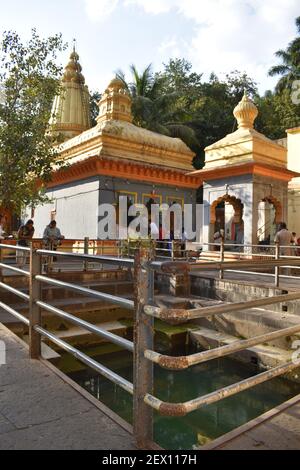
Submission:
[[[158,49],[185,56],[199,72],[246,71],[264,89],[274,79],[267,71],[276,61],[274,52],[295,36],[294,20],[299,0],[85,0],[89,16],[102,19],[117,6],[136,7],[147,14],[173,12],[191,22],[193,37],[186,44],[182,31],[170,31]],[[194,27],[192,26],[194,23]]]

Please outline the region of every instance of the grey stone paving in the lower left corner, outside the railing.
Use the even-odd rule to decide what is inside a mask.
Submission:
[[[0,323],[0,449],[134,449],[132,435],[39,361]]]

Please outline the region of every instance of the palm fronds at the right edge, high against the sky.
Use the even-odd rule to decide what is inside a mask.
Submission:
[[[276,57],[281,60],[281,64],[274,65],[269,70],[271,77],[281,75],[276,85],[276,92],[291,87],[295,80],[300,79],[300,16],[296,18],[296,26],[299,36],[288,45],[286,50],[280,49],[275,53]]]

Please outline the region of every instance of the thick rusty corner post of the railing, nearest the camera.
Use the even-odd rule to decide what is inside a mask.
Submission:
[[[153,363],[144,356],[153,350],[154,320],[144,313],[144,307],[153,303],[154,271],[149,262],[153,249],[141,247],[135,253],[135,321],[134,321],[134,397],[133,428],[137,446],[149,448],[153,441],[153,410],[144,402],[147,393],[153,393]]]

